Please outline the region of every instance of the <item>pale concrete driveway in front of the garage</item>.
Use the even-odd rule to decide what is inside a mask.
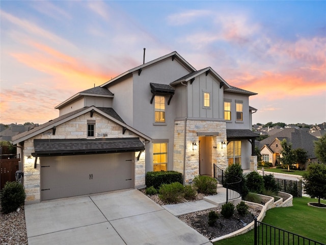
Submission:
[[[138,190],[25,206],[29,245],[210,244]]]

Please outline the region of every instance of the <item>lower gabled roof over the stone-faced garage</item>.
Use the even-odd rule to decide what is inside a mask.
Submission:
[[[83,115],[87,112],[90,112],[94,110],[94,112],[97,112],[98,114],[106,117],[107,119],[114,121],[116,124],[120,125],[121,127],[125,127],[127,130],[131,131],[132,133],[146,139],[151,140],[150,137],[144,135],[143,133],[131,128],[130,126],[126,125],[123,120],[120,118],[120,116],[114,111],[114,109],[108,109],[108,108],[97,108],[95,106],[90,107],[84,107],[75,111],[72,111],[70,113],[67,113],[65,115],[59,116],[53,120],[50,120],[46,122],[45,124],[40,125],[39,127],[36,127],[30,131],[23,132],[21,134],[18,134],[14,137],[12,137],[12,144],[17,144],[19,142],[22,142],[26,139],[32,138],[38,134],[41,134],[47,130],[52,129],[53,127],[57,127],[61,124],[64,124],[65,122],[76,118],[80,115]],[[109,114],[110,113],[110,114]],[[120,119],[119,119],[120,118]]]

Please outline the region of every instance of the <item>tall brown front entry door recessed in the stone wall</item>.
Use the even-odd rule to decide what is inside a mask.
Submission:
[[[212,137],[199,137],[199,174],[212,175]]]

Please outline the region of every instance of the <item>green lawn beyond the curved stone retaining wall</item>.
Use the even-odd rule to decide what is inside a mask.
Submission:
[[[293,198],[293,207],[272,208],[266,212],[263,223],[308,237],[326,244],[326,210],[309,207],[307,203],[317,199]],[[326,204],[326,201],[321,200]],[[243,235],[214,242],[215,245],[254,244],[254,230]]]

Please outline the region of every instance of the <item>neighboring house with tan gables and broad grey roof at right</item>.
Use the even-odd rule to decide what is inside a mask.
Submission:
[[[280,163],[280,157],[282,157],[281,141],[283,139],[286,139],[287,143],[292,143],[292,149],[302,148],[308,152],[308,158],[311,161],[316,160],[314,141],[318,139],[306,131],[287,128],[259,142],[262,161],[271,162],[273,166]]]

